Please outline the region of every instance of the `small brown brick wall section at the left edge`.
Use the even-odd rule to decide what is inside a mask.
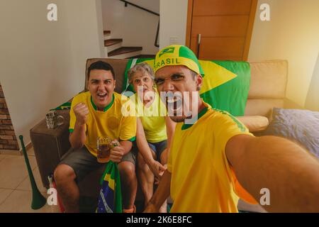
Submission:
[[[16,133],[14,133],[4,92],[0,84],[0,151],[19,150]]]

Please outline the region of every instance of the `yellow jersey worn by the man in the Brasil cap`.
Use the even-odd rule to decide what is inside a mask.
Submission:
[[[171,172],[171,212],[238,212],[237,194],[254,203],[228,162],[225,146],[234,135],[249,133],[225,111],[206,108],[194,125],[177,123],[167,170]]]

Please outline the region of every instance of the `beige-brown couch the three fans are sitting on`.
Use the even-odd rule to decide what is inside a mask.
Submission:
[[[123,74],[128,60],[89,59],[86,62],[86,69],[92,62],[97,60],[109,62],[113,66],[117,81],[116,92],[121,93],[123,88]],[[288,62],[286,62],[286,60],[250,62],[250,67],[252,77],[245,116],[264,116],[269,118],[274,107],[284,107]],[[84,89],[85,87],[86,85]],[[66,122],[69,122],[69,110],[59,111],[59,114],[65,116]],[[260,123],[259,120],[253,124],[258,125]],[[244,123],[250,123],[254,120],[247,121],[247,119],[244,119],[242,121],[244,121]],[[262,123],[262,125],[264,127],[264,123]],[[44,119],[30,130],[30,138],[33,143],[35,157],[38,162],[44,187],[49,187],[47,176],[52,174],[62,157],[70,149],[68,135],[68,123],[65,123],[59,128],[48,130]],[[80,182],[80,194],[85,196],[97,196],[99,192],[99,178],[102,172],[103,169],[92,172]],[[137,200],[139,199],[142,199],[140,192],[138,192],[137,196]],[[248,211],[262,211],[258,206],[250,206],[240,201],[239,209],[243,208]]]

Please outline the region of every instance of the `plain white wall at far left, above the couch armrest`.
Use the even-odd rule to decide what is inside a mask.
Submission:
[[[47,21],[47,4],[58,21]],[[103,56],[99,0],[0,1],[0,82],[16,135],[84,88],[85,63]],[[98,15],[98,16],[97,16]]]

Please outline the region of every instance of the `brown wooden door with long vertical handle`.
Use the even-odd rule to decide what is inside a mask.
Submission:
[[[189,0],[186,45],[202,60],[247,60],[256,8],[257,0]]]

